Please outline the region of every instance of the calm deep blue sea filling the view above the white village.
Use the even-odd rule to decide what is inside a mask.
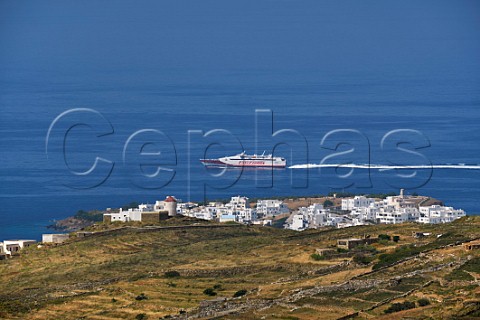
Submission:
[[[480,164],[479,17],[475,1],[0,2],[0,240],[166,195],[405,188],[480,213],[480,170],[198,162],[286,143],[289,165]],[[46,147],[74,108],[95,112]],[[96,157],[111,172],[72,173]],[[147,178],[157,165],[173,171]]]

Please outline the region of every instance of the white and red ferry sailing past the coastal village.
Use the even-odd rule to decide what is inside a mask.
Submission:
[[[269,167],[285,168],[287,161],[282,157],[273,157],[271,154],[248,155],[244,152],[230,157],[218,159],[200,159],[206,166],[225,166],[225,167]]]

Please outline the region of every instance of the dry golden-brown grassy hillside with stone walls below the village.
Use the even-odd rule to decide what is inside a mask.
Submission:
[[[118,229],[0,261],[0,318],[480,316],[480,250],[461,245],[480,237],[480,217],[301,233],[182,219],[165,224],[190,226]],[[414,239],[412,231],[432,236]],[[383,240],[353,257],[311,256],[337,239],[365,234],[400,240]]]

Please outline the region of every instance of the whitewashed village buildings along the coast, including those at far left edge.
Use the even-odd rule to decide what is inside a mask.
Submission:
[[[185,216],[220,223],[272,226],[274,221],[278,220],[282,222],[280,227],[303,231],[322,227],[346,228],[404,222],[449,223],[466,215],[462,209],[440,204],[425,205],[429,199],[426,196],[405,195],[404,190],[400,190],[398,195],[387,196],[385,199],[361,195],[337,198],[334,194],[324,199],[323,203],[311,203],[308,206],[292,209],[286,202],[277,199],[262,199],[256,203],[250,203],[248,197],[233,196],[226,202],[214,201],[200,205],[167,196],[164,200],[158,200],[152,204],[142,203],[137,208],[127,210],[107,208],[103,214],[103,221],[105,223],[138,221],[148,224],[174,216]],[[278,227],[278,224],[276,226]],[[87,234],[88,232],[82,233],[83,236]],[[69,236],[69,234],[43,234],[42,243],[62,243]],[[16,255],[22,249],[34,244],[36,244],[35,240],[0,242],[0,260]]]

